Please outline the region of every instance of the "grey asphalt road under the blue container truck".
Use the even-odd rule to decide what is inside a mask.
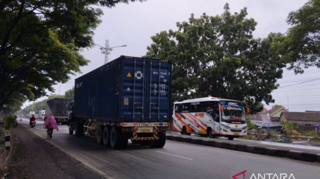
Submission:
[[[245,179],[259,175],[266,179],[318,179],[320,176],[319,164],[289,158],[172,140],[167,140],[162,149],[129,142],[125,150],[112,150],[98,145],[94,138],[68,134],[65,125],[60,125],[59,132],[54,130],[52,140],[47,140],[43,121],[37,121],[34,129],[28,127],[27,119],[18,123],[108,179],[231,179],[237,174],[238,179],[243,179],[244,174]]]

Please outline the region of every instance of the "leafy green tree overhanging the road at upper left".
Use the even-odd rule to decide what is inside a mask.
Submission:
[[[35,100],[80,72],[89,61],[79,51],[94,46],[101,22],[98,5],[129,1],[137,0],[0,1],[0,106],[15,92]]]

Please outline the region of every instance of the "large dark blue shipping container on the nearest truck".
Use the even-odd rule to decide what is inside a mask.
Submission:
[[[171,61],[121,56],[75,79],[74,115],[163,122],[171,116]]]

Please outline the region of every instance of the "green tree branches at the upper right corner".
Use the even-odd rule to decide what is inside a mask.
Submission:
[[[303,73],[303,68],[320,67],[320,0],[309,0],[290,12],[287,22],[293,25],[284,41],[284,59],[289,69]]]

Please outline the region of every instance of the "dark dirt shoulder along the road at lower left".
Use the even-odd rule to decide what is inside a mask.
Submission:
[[[16,149],[4,179],[104,178],[22,126],[12,128],[10,137]]]

